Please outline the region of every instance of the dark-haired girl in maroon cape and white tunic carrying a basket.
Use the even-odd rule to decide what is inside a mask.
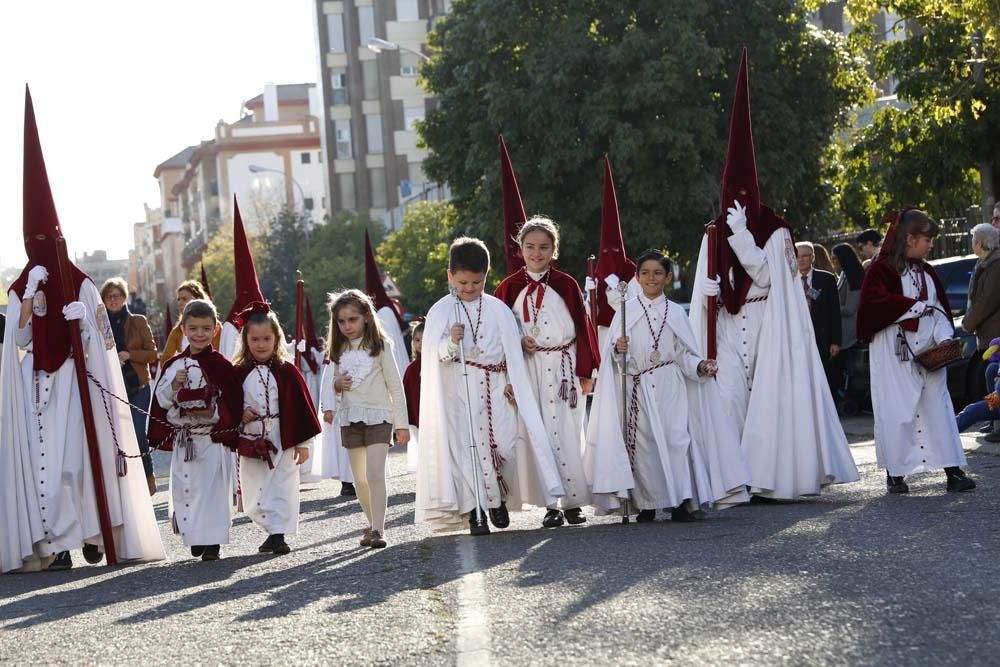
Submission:
[[[938,227],[923,211],[894,216],[868,269],[858,306],[858,338],[871,341],[875,452],[889,493],[907,493],[905,475],[944,468],[948,491],[976,488],[959,467],[965,453],[947,373],[915,355],[952,338],[944,286],[925,259]]]

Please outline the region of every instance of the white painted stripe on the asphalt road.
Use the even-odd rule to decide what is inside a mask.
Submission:
[[[459,667],[490,664],[490,625],[486,616],[483,573],[479,571],[475,540],[459,538],[458,562],[458,655]]]

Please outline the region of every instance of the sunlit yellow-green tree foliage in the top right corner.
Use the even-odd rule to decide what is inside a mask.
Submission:
[[[1000,192],[1000,3],[988,0],[849,0],[856,31],[872,40],[879,79],[898,102],[844,151],[844,201],[877,219],[902,205],[938,214],[977,201],[984,218]],[[874,21],[892,10],[898,21]]]

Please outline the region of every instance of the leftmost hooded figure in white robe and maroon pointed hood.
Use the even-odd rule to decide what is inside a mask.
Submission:
[[[89,562],[98,562],[104,550],[68,320],[80,323],[87,371],[94,380],[115,396],[126,391],[97,287],[67,262],[71,275],[66,283],[72,291],[63,291],[56,251],[61,236],[31,95],[25,89],[28,263],[8,292],[7,363],[0,372],[0,572],[66,569],[72,565],[70,550],[83,547]],[[90,403],[117,556],[161,560],[163,545],[129,408],[104,397],[96,384],[90,386]]]

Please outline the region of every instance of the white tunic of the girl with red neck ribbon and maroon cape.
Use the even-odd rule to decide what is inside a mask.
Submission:
[[[542,277],[541,274],[528,275],[532,280]],[[537,325],[540,333],[532,337],[539,347],[562,347],[572,343],[576,338],[576,326],[563,298],[554,289],[546,287],[541,308],[535,313],[529,307],[529,320],[534,319],[525,322],[523,304],[527,291],[527,287],[521,290],[513,306],[521,335],[532,336],[532,327]],[[529,305],[534,305],[536,294],[531,295]],[[590,488],[583,471],[583,421],[587,412],[587,400],[580,389],[580,379],[576,376],[576,345],[570,345],[566,353],[565,356],[562,352],[526,354],[525,363],[531,390],[542,414],[566,492],[559,504],[563,509],[571,509],[589,502]],[[559,396],[563,379],[568,381],[569,388],[574,388],[577,392],[578,402],[575,408],[570,407],[569,401]]]

